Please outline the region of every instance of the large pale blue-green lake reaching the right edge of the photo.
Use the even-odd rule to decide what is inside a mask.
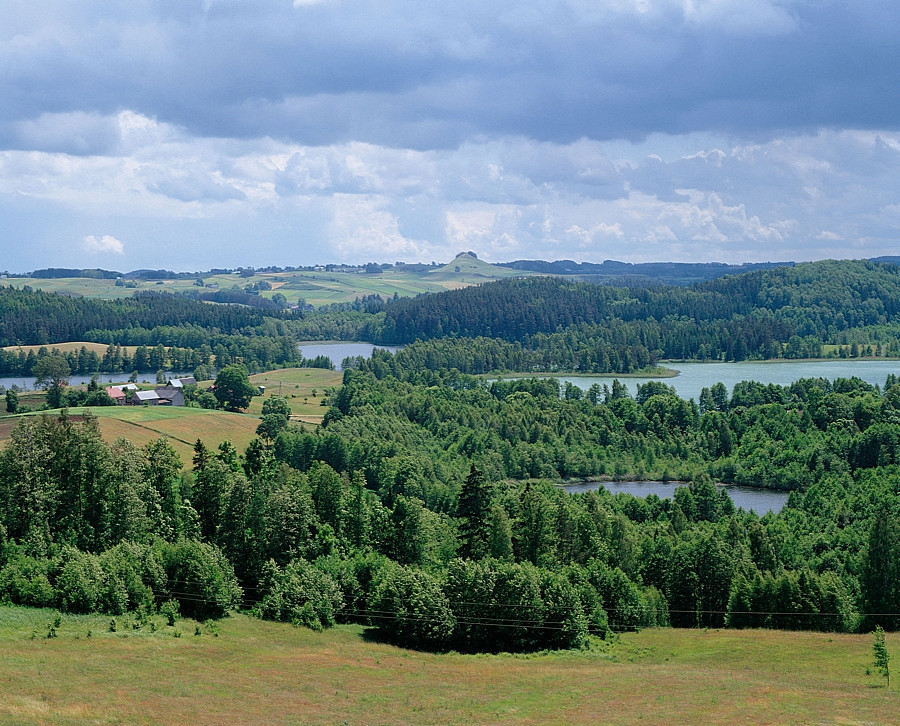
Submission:
[[[587,390],[594,383],[611,386],[613,379],[625,384],[631,395],[637,393],[638,384],[661,381],[673,386],[682,398],[700,398],[704,387],[724,383],[730,393],[735,383],[759,381],[789,386],[800,378],[850,378],[856,376],[866,383],[884,386],[888,373],[900,374],[900,361],[896,360],[834,360],[834,361],[774,361],[754,363],[665,363],[666,368],[678,371],[674,378],[622,378],[619,376],[554,376],[559,381],[572,383]]]

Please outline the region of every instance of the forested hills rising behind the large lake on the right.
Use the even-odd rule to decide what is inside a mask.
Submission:
[[[429,341],[429,365],[473,374],[633,373],[663,359],[816,358],[825,345],[847,346],[846,355],[896,356],[900,267],[827,260],[691,287],[512,278],[415,298],[362,300],[294,326],[309,338]],[[464,362],[485,358],[492,367]]]

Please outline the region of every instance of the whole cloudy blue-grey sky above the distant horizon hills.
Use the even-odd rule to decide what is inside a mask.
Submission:
[[[0,271],[900,254],[896,0],[0,0]]]

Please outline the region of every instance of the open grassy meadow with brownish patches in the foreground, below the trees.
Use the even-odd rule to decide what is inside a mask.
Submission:
[[[341,626],[0,607],[0,724],[892,724],[871,636],[652,629],[608,650],[415,653]],[[173,637],[174,630],[182,637]],[[87,637],[88,630],[92,631]],[[32,637],[34,636],[34,637]],[[897,651],[900,638],[888,636]]]

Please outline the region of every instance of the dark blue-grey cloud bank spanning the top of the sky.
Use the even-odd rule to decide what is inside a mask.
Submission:
[[[10,148],[40,148],[47,114],[123,108],[201,136],[415,148],[900,123],[886,0],[6,5]]]

